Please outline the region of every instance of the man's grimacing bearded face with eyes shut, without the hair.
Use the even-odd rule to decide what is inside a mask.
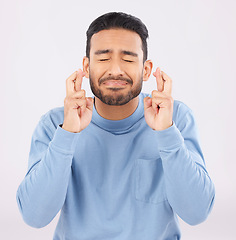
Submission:
[[[128,103],[142,89],[140,36],[125,29],[102,30],[94,34],[87,69],[91,90],[103,103],[116,106]]]

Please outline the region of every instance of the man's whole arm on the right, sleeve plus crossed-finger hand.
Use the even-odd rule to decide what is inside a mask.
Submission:
[[[144,115],[158,138],[167,198],[184,221],[198,224],[212,209],[215,189],[205,169],[194,116],[186,107],[179,112],[177,127],[172,120],[172,79],[160,68],[153,75],[158,91],[153,90],[152,97],[144,98]]]

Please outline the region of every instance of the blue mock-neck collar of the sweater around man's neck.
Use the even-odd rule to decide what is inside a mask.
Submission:
[[[94,96],[93,96],[94,98]],[[93,105],[93,116],[92,122],[99,126],[100,128],[116,133],[116,132],[126,132],[129,130],[140,118],[144,115],[143,111],[143,95],[139,94],[139,102],[136,110],[129,117],[121,119],[121,120],[108,120],[103,118],[98,114],[95,104]]]

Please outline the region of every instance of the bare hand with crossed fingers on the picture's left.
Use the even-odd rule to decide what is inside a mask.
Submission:
[[[84,76],[85,73],[79,69],[66,80],[62,128],[73,133],[81,132],[89,125],[92,119],[93,98],[85,97],[85,90],[81,90]]]

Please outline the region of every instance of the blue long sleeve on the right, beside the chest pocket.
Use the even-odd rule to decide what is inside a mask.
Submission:
[[[157,131],[168,201],[190,225],[204,221],[210,213],[215,188],[205,168],[194,115],[188,109],[168,129]]]

